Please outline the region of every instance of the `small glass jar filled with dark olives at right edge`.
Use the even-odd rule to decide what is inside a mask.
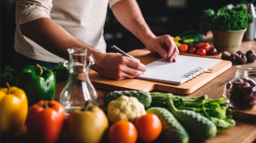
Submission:
[[[256,103],[256,82],[249,78],[247,70],[238,68],[235,78],[225,85],[223,96],[232,108],[250,109]]]

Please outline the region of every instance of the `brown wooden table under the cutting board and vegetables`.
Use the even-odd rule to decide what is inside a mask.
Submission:
[[[206,42],[209,42],[212,45],[212,35],[209,33],[207,37],[205,37]],[[254,50],[256,52],[256,41],[243,41],[239,50],[248,51],[248,50]],[[256,61],[254,63],[247,63],[245,65],[249,66],[256,66]],[[236,72],[236,64],[233,64],[230,69],[216,77],[215,79],[211,80],[209,83],[205,84],[195,92],[191,93],[190,95],[187,95],[188,97],[198,97],[200,95],[208,95],[211,99],[216,99],[220,96],[222,96],[223,89],[225,84],[229,79],[234,78],[235,72]],[[256,81],[255,75],[249,75],[250,78]],[[58,101],[59,95],[61,93],[61,90],[65,86],[66,81],[61,81],[57,84],[57,91],[56,91],[56,100]],[[110,92],[108,90],[102,90],[97,88],[97,92],[99,95],[99,99],[102,99],[103,96]],[[161,92],[161,91],[159,91]],[[101,108],[104,108],[102,100],[99,100],[99,106]],[[256,107],[254,108],[254,111],[247,110],[245,113],[249,114],[256,114]],[[230,128],[229,130],[218,132],[216,137],[213,139],[209,139],[207,141],[204,141],[202,143],[252,143],[256,139],[256,118],[251,119],[255,122],[247,122],[243,120],[237,120],[236,119],[236,126],[233,128]],[[26,136],[26,128],[24,127],[19,135],[15,137],[11,137],[8,139],[1,138],[1,142],[16,142],[16,141],[28,141]]]

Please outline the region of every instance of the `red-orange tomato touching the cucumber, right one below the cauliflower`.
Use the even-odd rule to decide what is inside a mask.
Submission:
[[[153,142],[162,132],[162,123],[155,114],[145,114],[137,118],[135,127],[138,130],[139,139],[146,143]]]

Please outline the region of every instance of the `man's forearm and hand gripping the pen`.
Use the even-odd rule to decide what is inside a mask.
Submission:
[[[50,18],[39,18],[20,25],[22,34],[44,47],[48,51],[68,59],[67,48],[80,47],[88,49],[88,55],[94,57],[91,66],[97,73],[110,79],[134,78],[146,71],[139,61],[119,53],[102,53],[70,35],[65,29]]]

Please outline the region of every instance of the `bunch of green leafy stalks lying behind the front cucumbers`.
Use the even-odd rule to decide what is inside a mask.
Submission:
[[[181,97],[172,93],[150,93],[152,98],[151,106],[168,107],[166,98],[171,98],[178,110],[192,110],[207,117],[217,126],[218,130],[226,130],[236,125],[231,114],[226,114],[229,106],[225,101],[227,97],[209,99],[207,95],[200,97]]]

